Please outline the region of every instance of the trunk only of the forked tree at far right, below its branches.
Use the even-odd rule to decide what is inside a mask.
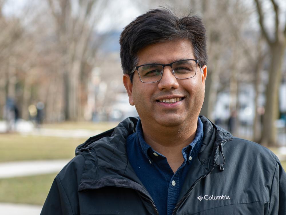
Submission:
[[[271,63],[269,68],[269,82],[266,89],[265,114],[263,116],[263,130],[261,144],[276,146],[275,120],[278,118],[278,90],[281,82],[281,65],[285,44],[276,42],[270,46]]]

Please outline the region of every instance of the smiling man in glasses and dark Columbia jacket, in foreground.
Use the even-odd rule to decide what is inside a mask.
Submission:
[[[286,214],[277,157],[199,116],[202,20],[154,9],[126,26],[120,46],[123,83],[140,118],[78,146],[41,214]]]

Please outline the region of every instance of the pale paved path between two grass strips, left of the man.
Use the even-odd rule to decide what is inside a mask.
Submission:
[[[0,163],[0,178],[59,172],[69,160],[39,160]]]

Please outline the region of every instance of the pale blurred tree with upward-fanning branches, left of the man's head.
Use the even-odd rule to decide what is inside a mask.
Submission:
[[[81,111],[80,75],[94,26],[104,1],[47,0],[56,24],[61,53],[66,120],[78,120]]]

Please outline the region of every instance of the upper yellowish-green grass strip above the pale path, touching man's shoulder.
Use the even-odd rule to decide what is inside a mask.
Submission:
[[[0,134],[0,162],[71,159],[76,146],[86,138],[59,138],[45,136],[22,136],[20,134]]]

